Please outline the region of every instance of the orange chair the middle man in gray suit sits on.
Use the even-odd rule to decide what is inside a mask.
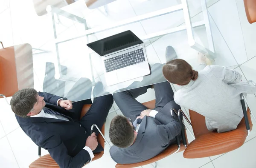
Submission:
[[[148,109],[153,109],[155,108],[155,103],[156,103],[155,100],[151,100],[142,104],[145,105]],[[185,132],[185,136],[186,136],[186,132]],[[187,142],[187,139],[186,139],[186,142]],[[148,165],[148,164],[151,164],[153,167],[156,168],[157,161],[184,150],[185,150],[185,145],[183,145],[183,142],[181,141],[180,148],[179,147],[177,148],[177,144],[173,144],[167,147],[163,152],[161,152],[157,156],[152,157],[151,159],[145,160],[143,162],[132,163],[132,164],[116,164],[116,168],[134,168],[134,167],[139,167],[139,166]],[[152,164],[154,162],[155,162],[155,165]]]

